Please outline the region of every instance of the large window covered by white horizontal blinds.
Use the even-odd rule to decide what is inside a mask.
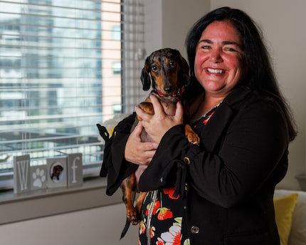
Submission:
[[[0,1],[0,180],[25,154],[81,152],[98,173],[96,123],[142,98],[142,12],[142,0]]]

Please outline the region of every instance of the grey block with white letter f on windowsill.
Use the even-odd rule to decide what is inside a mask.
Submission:
[[[83,184],[82,153],[68,154],[68,187],[80,187]]]

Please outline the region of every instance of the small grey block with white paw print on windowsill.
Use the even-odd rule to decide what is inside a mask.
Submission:
[[[46,165],[31,166],[31,190],[47,188]]]

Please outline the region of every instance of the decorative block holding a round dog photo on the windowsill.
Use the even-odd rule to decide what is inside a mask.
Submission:
[[[47,159],[48,188],[67,187],[67,157]]]

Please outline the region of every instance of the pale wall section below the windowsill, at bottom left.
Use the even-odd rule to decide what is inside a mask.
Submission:
[[[55,215],[1,225],[0,244],[5,245],[136,245],[137,226],[125,237],[125,205],[116,204],[86,211]]]

